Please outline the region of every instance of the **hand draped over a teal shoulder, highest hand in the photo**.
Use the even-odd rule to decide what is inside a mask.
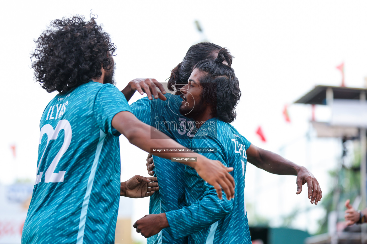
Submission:
[[[135,78],[129,82],[129,85],[132,90],[138,91],[141,95],[146,93],[148,95],[149,100],[153,100],[154,98],[159,98],[165,101],[167,98],[163,95],[166,94],[166,90],[163,85],[159,83],[156,79],[150,78]],[[157,87],[161,92],[157,91]]]

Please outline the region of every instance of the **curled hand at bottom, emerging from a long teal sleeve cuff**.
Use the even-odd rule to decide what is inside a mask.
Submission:
[[[167,227],[170,227],[170,225],[166,213],[145,215],[134,224],[136,231],[145,238],[154,236]]]

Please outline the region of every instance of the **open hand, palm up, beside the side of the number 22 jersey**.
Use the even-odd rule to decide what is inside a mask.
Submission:
[[[128,198],[145,198],[151,196],[159,190],[157,177],[143,177],[135,175],[131,179],[121,182],[120,196]]]

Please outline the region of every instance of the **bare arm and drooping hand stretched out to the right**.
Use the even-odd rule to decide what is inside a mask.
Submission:
[[[264,169],[272,174],[297,175],[297,194],[302,191],[302,185],[307,183],[308,198],[311,203],[317,204],[322,197],[319,182],[315,176],[303,166],[281,157],[280,155],[268,150],[261,149],[254,144],[246,150],[247,162]]]

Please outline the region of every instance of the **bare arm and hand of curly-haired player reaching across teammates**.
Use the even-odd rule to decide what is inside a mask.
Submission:
[[[117,113],[112,119],[112,126],[126,136],[131,144],[147,152],[150,152],[151,147],[186,148],[162,132],[156,131],[155,128],[144,124],[128,111]],[[234,197],[235,181],[228,173],[233,168],[225,167],[220,161],[210,160],[197,153],[172,152],[153,154],[167,159],[171,159],[171,157],[197,157],[197,162],[181,163],[194,168],[203,180],[211,184],[217,190],[219,199],[222,199],[222,189],[228,199]]]

